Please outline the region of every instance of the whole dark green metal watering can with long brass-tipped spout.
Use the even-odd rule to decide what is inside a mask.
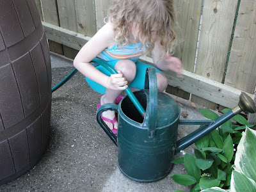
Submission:
[[[179,120],[180,107],[177,102],[166,93],[157,92],[154,68],[147,69],[145,89],[134,93],[128,91],[127,96],[118,105],[100,106],[97,122],[118,147],[117,163],[121,172],[137,182],[163,179],[170,173],[173,156],[180,150],[195,143],[241,111],[256,111],[253,100],[241,93],[238,106],[216,120]],[[118,113],[117,137],[100,118],[108,110]],[[177,141],[178,124],[204,126]]]

